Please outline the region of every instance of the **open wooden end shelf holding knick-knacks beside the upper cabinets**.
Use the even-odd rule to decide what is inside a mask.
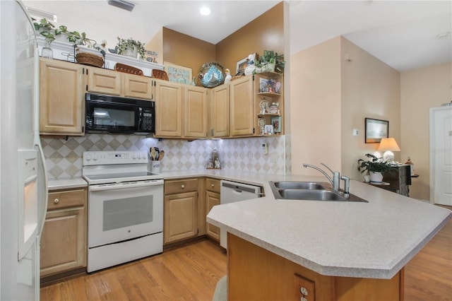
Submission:
[[[283,134],[283,74],[257,73],[254,85],[254,90],[257,92],[255,96],[256,112],[258,112],[256,135]]]

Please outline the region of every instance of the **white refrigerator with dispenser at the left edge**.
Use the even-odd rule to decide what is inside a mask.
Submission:
[[[39,300],[47,178],[39,135],[39,57],[19,1],[0,1],[0,300]]]

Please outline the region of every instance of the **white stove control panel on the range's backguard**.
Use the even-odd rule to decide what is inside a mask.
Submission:
[[[85,151],[83,166],[148,163],[146,151]]]

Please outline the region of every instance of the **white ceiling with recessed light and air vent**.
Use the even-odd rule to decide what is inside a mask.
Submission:
[[[108,47],[117,37],[148,42],[162,27],[216,44],[279,1],[143,1],[132,12],[97,1],[23,1]],[[451,61],[452,1],[287,1],[290,53],[343,35],[398,71]],[[210,16],[201,16],[201,6]],[[181,49],[183,51],[183,49]]]

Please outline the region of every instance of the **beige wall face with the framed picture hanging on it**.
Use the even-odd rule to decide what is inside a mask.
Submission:
[[[400,146],[400,73],[344,37],[341,52],[341,166],[344,175],[361,180],[357,160],[379,146],[364,142],[364,118],[388,120],[389,136]],[[394,158],[400,160],[400,152]]]

